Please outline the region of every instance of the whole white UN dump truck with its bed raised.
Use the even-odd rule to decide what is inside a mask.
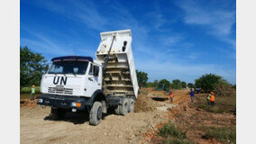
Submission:
[[[97,125],[103,113],[133,112],[139,86],[135,72],[130,30],[100,33],[96,59],[82,56],[52,58],[41,78],[39,105],[51,106],[51,118],[66,112],[89,112]]]

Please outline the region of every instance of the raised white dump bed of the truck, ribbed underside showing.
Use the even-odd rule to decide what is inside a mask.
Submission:
[[[139,86],[133,62],[131,31],[101,32],[100,36],[101,42],[96,50],[96,59],[103,66],[109,53],[103,76],[105,93],[137,98]]]

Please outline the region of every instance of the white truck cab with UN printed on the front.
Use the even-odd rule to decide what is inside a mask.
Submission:
[[[51,59],[41,78],[42,94],[91,97],[102,87],[102,67],[90,57],[67,56]]]

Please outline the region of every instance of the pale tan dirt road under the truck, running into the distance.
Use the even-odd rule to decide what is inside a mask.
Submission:
[[[186,91],[174,95],[174,104],[154,101],[157,109],[152,112],[110,113],[98,126],[90,126],[85,115],[67,113],[64,120],[51,121],[50,107],[21,107],[21,143],[142,143],[146,131],[169,121],[167,109],[188,96]]]

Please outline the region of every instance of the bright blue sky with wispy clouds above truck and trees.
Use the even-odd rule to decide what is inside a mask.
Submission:
[[[213,73],[236,83],[234,0],[21,0],[21,46],[50,58],[92,56],[99,32],[131,29],[136,69],[149,81]]]

